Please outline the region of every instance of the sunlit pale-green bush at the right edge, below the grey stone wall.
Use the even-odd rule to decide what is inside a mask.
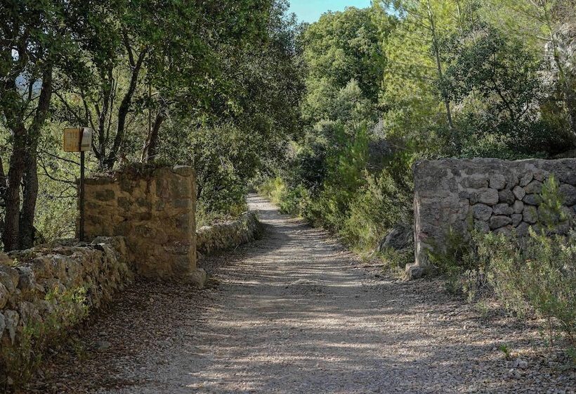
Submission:
[[[490,266],[490,284],[502,303],[519,317],[535,312],[546,319],[549,338],[576,333],[576,234],[528,239],[488,234],[478,257]]]

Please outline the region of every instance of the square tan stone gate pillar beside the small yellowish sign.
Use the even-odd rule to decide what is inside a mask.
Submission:
[[[136,273],[203,286],[196,267],[195,172],[132,165],[86,179],[85,234],[124,236]]]

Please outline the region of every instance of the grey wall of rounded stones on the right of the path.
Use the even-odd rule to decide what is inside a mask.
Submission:
[[[505,161],[422,160],[414,165],[415,262],[409,277],[424,272],[428,250],[444,249],[452,229],[466,239],[469,231],[518,235],[542,222],[539,193],[551,175],[560,183],[564,220],[556,232],[567,233],[576,215],[576,159]]]

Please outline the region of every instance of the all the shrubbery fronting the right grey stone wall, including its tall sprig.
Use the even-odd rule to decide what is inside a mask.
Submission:
[[[536,314],[546,320],[550,343],[558,333],[575,340],[576,233],[551,235],[564,220],[558,182],[550,177],[540,195],[541,233],[528,237],[473,232],[471,239],[450,231],[445,248],[436,247],[430,262],[447,277],[447,289],[469,300],[494,293],[504,307],[523,319]]]

